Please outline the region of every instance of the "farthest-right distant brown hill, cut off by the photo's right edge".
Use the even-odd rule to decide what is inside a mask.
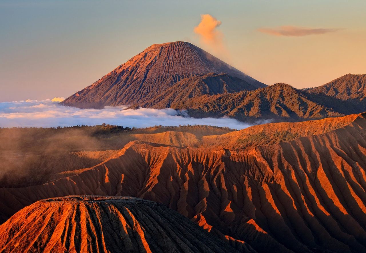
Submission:
[[[366,74],[347,74],[315,88],[307,88],[306,92],[324,94],[361,106],[366,110]]]

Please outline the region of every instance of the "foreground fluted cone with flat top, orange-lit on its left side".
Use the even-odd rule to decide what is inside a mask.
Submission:
[[[90,195],[23,208],[0,226],[0,251],[238,252],[162,204]]]

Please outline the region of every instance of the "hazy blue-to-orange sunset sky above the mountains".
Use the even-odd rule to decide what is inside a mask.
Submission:
[[[188,41],[266,84],[366,73],[365,0],[0,2],[0,102],[68,97],[156,43]],[[202,14],[218,36],[200,37]]]

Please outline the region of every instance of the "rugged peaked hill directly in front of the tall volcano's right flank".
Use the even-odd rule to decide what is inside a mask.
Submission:
[[[171,103],[171,107],[186,109],[192,117],[229,116],[243,121],[320,119],[344,115],[326,107],[321,99],[314,102],[313,96],[288,84],[277,83],[252,91],[193,97]]]

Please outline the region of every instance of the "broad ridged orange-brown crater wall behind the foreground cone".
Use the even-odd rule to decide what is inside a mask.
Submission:
[[[0,188],[1,214],[49,197],[133,196],[178,211],[237,250],[366,251],[366,114],[196,138],[177,132],[184,143],[174,135],[131,141],[42,185]]]

